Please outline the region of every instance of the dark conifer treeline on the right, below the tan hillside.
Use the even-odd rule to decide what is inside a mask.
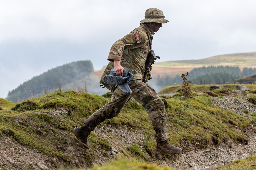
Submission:
[[[256,68],[244,68],[241,72],[239,67],[232,66],[209,66],[195,68],[189,72],[188,80],[193,84],[223,84],[226,82],[234,83],[234,79],[247,77],[256,74]],[[161,88],[173,85],[175,83],[182,84],[183,80],[180,75],[174,78],[166,76],[156,79],[157,85]]]

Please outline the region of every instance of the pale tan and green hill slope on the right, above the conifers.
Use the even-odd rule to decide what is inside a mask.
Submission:
[[[256,67],[256,52],[225,54],[199,60],[158,61],[156,60],[152,69],[153,77],[169,76],[173,78],[203,66],[235,66],[239,67],[241,71],[245,67],[254,68]]]

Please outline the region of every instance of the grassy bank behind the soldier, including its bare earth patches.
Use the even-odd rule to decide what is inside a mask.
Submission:
[[[214,93],[224,96],[228,93],[235,94],[236,91],[220,89]],[[244,93],[255,97],[251,91]],[[182,147],[183,153],[228,141],[241,144],[250,141],[248,137],[234,131],[234,128],[248,127],[256,121],[255,116],[239,115],[231,110],[220,109],[212,105],[211,98],[206,94],[194,94],[193,99],[184,100],[180,96],[162,96],[167,112],[169,140],[173,145]],[[149,164],[159,160],[164,162],[162,165],[174,163],[177,158],[154,153],[156,142],[151,121],[144,108],[133,99],[119,116],[106,120],[91,132],[88,138],[90,150],[81,148],[73,134],[73,128],[81,126],[87,117],[109,100],[109,94],[98,96],[68,90],[27,99],[16,104],[10,111],[1,109],[0,138],[9,143],[2,145],[2,148],[17,148],[13,152],[24,158],[27,156],[28,160],[17,163],[3,161],[0,167],[33,169],[40,167],[40,164],[29,163],[29,159],[37,159],[38,162],[43,159],[43,165],[51,169],[88,168],[95,163],[100,165],[114,159],[111,155],[112,147],[118,150],[119,155],[128,157],[128,162],[133,158]],[[185,141],[192,145],[187,145]],[[12,150],[4,150],[1,150],[4,154],[3,157],[0,155],[0,159],[18,159]],[[157,168],[155,165],[152,167]]]

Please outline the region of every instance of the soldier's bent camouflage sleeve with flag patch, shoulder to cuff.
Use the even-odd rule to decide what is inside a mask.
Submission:
[[[139,34],[136,34],[139,33]],[[136,35],[140,35],[139,37]],[[142,32],[131,32],[130,34],[125,35],[120,40],[116,41],[109,52],[108,60],[114,61],[119,60],[121,61],[121,56],[123,53],[124,48],[128,46],[136,45],[136,48],[143,46],[145,43],[145,40],[147,38],[147,35],[144,35]]]

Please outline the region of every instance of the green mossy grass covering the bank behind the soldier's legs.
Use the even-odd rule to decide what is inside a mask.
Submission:
[[[225,96],[232,90],[219,89],[213,92],[218,96]],[[173,98],[164,96],[162,98],[165,101],[169,141],[172,145],[181,146],[182,141],[185,140],[199,143],[199,148],[205,147],[206,144],[219,144],[230,139],[248,143],[249,139],[234,132],[233,127],[237,126],[238,129],[247,127],[256,120],[255,116],[247,115],[248,119],[248,117],[240,116],[230,110],[220,109],[212,105],[211,97],[207,95],[194,95],[194,99],[183,100],[178,95]],[[10,111],[0,112],[0,136],[8,135],[21,145],[37,149],[49,158],[57,157],[64,164],[69,164],[76,159],[76,156],[66,155],[65,148],[69,146],[80,148],[76,144],[77,139],[73,134],[73,128],[83,125],[83,121],[87,117],[109,100],[108,95],[80,94],[73,90],[28,99],[17,103]],[[58,108],[66,109],[66,111],[49,112],[58,110]],[[14,123],[15,119],[19,119],[21,122]],[[45,124],[51,129],[46,130],[43,127]],[[105,125],[142,130],[146,139],[142,143],[131,144],[127,148],[123,148],[124,153],[134,155],[137,160],[145,162],[148,161],[146,155],[155,156],[153,151],[156,147],[155,132],[151,121],[144,108],[134,99],[126,104],[119,116],[101,124],[101,126]],[[116,141],[122,140],[114,136],[113,138]],[[83,155],[87,165],[91,165],[97,157],[98,153],[94,152],[96,148],[100,148],[103,155],[111,152],[112,145],[109,140],[97,136],[93,132],[91,132],[88,142],[91,149],[85,150]],[[185,146],[183,146],[183,150],[186,151]],[[160,168],[156,165],[141,163],[135,167]]]

